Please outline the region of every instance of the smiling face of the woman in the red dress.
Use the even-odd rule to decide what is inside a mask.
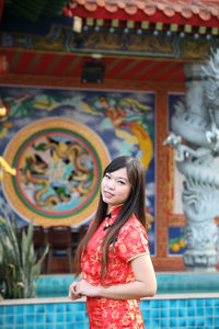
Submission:
[[[103,201],[108,204],[108,211],[123,204],[127,200],[130,189],[126,168],[106,172],[102,180],[101,193]]]

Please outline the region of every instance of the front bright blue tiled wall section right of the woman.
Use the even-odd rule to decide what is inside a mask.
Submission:
[[[219,298],[143,300],[146,328],[219,328]]]

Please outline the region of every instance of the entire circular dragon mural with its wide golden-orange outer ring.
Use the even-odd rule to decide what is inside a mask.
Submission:
[[[53,117],[19,132],[4,159],[16,169],[3,191],[24,219],[43,226],[74,225],[96,209],[110,156],[102,139],[81,123]]]

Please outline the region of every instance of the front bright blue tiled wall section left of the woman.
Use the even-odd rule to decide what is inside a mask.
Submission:
[[[85,329],[85,303],[0,306],[2,329]]]

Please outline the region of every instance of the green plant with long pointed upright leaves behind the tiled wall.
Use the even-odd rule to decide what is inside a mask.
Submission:
[[[0,224],[0,299],[35,297],[42,264],[48,246],[37,260],[33,245],[33,220],[21,230],[14,214],[5,214]]]

